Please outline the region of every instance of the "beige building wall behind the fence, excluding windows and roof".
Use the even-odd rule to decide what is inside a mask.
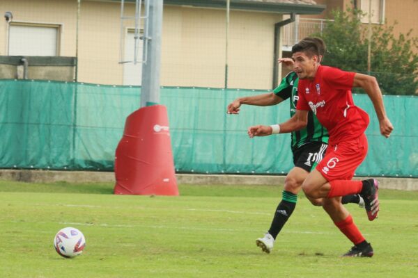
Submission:
[[[126,15],[134,5],[125,4]],[[121,4],[82,1],[79,19],[78,80],[122,84]],[[61,25],[60,56],[76,55],[77,1],[2,0],[0,12],[11,11],[15,22]],[[226,63],[225,10],[164,6],[161,84],[224,87]],[[274,24],[281,15],[231,11],[229,88],[270,89]],[[125,22],[123,31],[133,27]],[[6,55],[5,20],[0,21],[0,55]]]

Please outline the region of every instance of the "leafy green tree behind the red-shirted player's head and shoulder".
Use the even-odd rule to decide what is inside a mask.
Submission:
[[[394,26],[373,24],[371,36],[371,72],[367,72],[367,26],[362,24],[361,10],[334,10],[334,20],[327,20],[322,33],[327,44],[324,65],[376,76],[385,95],[414,95],[418,92],[418,38],[393,34]],[[396,23],[395,23],[396,24]],[[362,92],[356,90],[355,92]]]

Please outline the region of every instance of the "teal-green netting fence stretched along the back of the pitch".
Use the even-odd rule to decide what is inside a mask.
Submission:
[[[140,88],[54,81],[0,81],[0,167],[111,171],[125,118],[137,110]],[[227,115],[233,99],[265,91],[162,88],[176,172],[285,174],[293,167],[290,135],[249,139],[247,127],[289,117],[278,106],[242,106]],[[418,177],[418,98],[385,96],[394,132],[380,136],[366,95],[355,103],[371,115],[369,155],[360,176]]]

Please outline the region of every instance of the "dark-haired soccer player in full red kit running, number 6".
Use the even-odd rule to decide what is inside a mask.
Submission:
[[[249,137],[302,129],[307,124],[308,111],[313,111],[330,133],[330,140],[325,158],[309,173],[302,190],[311,199],[325,198],[323,208],[336,227],[353,242],[354,247],[343,256],[373,256],[373,248],[341,204],[341,196],[359,193],[364,198],[369,220],[377,217],[378,181],[351,180],[367,154],[364,131],[369,124],[369,115],[353,103],[351,89],[361,87],[366,91],[378,116],[380,133],[388,138],[393,126],[387,118],[379,85],[373,76],[320,65],[318,49],[311,40],[295,44],[292,58],[294,71],[300,79],[295,115],[282,124],[250,126]]]

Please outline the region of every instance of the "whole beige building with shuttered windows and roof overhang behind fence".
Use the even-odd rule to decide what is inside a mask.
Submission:
[[[125,17],[134,16],[129,2]],[[225,3],[164,1],[162,85],[224,88]],[[275,24],[291,12],[318,14],[324,8],[311,0],[231,1],[228,88],[271,89],[280,76]],[[135,49],[134,21],[121,20],[121,1],[82,0],[78,35],[77,0],[1,0],[0,13],[6,12],[13,18],[0,21],[0,56],[78,56],[78,81],[140,84],[141,63],[120,63],[132,61]],[[140,43],[137,53],[142,51]]]

